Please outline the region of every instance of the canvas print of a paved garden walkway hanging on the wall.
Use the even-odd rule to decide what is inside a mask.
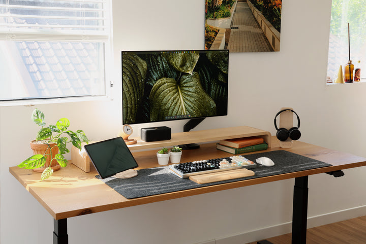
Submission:
[[[280,51],[282,0],[205,0],[205,49]]]

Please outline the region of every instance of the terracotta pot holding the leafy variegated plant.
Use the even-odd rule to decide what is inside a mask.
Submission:
[[[49,154],[50,153],[50,148],[48,147],[47,144],[43,144],[43,143],[34,143],[36,140],[31,141],[31,148],[33,150],[33,153],[36,154]],[[50,143],[49,144],[50,147],[52,148],[52,158],[58,154],[58,146],[56,143]],[[46,151],[47,150],[47,151]],[[45,153],[46,151],[46,153]],[[51,161],[51,157],[50,155],[46,156],[46,163],[43,167],[41,168],[37,168],[37,169],[33,169],[36,172],[43,172],[43,170],[45,170],[45,168],[47,168],[50,165],[50,161]],[[51,169],[53,169],[53,171],[57,171],[61,168],[61,166],[57,163],[57,160],[53,159],[52,163],[51,163]]]

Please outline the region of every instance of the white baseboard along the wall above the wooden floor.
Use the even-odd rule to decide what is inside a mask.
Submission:
[[[329,212],[324,215],[318,215],[308,218],[308,228],[326,225],[334,222],[349,220],[366,215],[366,205],[343,209],[340,211]],[[216,238],[214,240],[209,240],[207,243],[214,244],[243,244],[248,242],[253,242],[257,240],[262,240],[270,238],[273,236],[283,235],[291,232],[291,223],[286,222],[279,225],[268,226],[265,228],[248,231],[245,233],[239,233],[230,236],[224,236]],[[203,242],[206,243],[206,242]]]

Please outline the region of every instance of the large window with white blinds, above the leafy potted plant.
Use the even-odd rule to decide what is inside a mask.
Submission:
[[[0,0],[0,100],[107,95],[110,0]]]

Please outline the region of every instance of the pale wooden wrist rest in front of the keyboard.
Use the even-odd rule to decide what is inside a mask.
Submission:
[[[228,171],[221,171],[210,174],[200,174],[190,176],[189,179],[198,183],[198,184],[206,184],[211,182],[217,182],[228,179],[237,179],[242,177],[253,176],[254,172],[252,170],[248,170],[246,168],[243,169],[234,169]]]

